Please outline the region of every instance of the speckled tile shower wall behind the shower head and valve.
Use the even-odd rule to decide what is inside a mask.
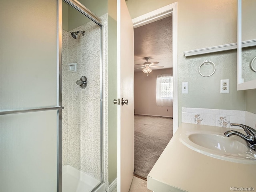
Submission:
[[[72,32],[78,30],[85,35],[77,39],[62,30],[62,163],[100,180],[100,27],[88,22]],[[77,72],[68,72],[69,63]],[[85,89],[76,85],[81,76]]]

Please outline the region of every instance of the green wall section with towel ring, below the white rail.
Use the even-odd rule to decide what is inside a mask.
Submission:
[[[210,108],[246,110],[245,91],[236,90],[236,51],[226,51],[202,56],[178,58],[178,100],[179,122],[181,122],[181,108]],[[210,60],[216,65],[215,73],[210,77],[203,77],[198,67],[204,60]],[[213,67],[202,66],[202,74],[211,74]],[[229,94],[220,93],[220,80],[230,80]],[[188,82],[188,94],[182,94],[181,82]]]

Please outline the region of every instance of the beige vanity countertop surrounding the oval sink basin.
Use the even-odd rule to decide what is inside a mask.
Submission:
[[[179,140],[182,132],[190,130],[224,133],[230,128],[182,123],[148,174],[148,189],[154,192],[230,192],[251,187],[256,191],[256,164],[229,162],[191,150]]]

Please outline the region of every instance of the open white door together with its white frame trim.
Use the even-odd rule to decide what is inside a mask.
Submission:
[[[130,29],[130,16],[128,14],[128,9],[126,5],[124,6],[124,2],[118,0],[118,13],[117,13],[117,36],[118,36],[118,66],[117,66],[117,82],[121,82],[118,84],[118,98],[124,98],[129,100],[129,104],[133,105],[133,102],[130,103],[130,99],[133,101],[133,96],[131,98],[127,98],[126,95],[130,96],[130,93],[133,94],[133,78],[126,78],[126,76],[122,76],[122,71],[127,71],[126,69],[128,68],[130,70],[130,64],[134,63],[134,52],[133,52],[133,43],[131,44],[130,42],[133,42],[133,29],[132,26],[138,26],[141,23],[145,22],[152,22],[155,18],[161,17],[163,14],[168,14],[168,13],[173,13],[173,77],[174,77],[174,103],[173,103],[173,108],[174,108],[174,132],[178,128],[178,92],[177,92],[177,3],[170,4],[164,8],[160,8],[159,10],[155,10],[152,13],[150,12],[149,14],[145,14],[144,16],[140,16],[138,18],[135,18],[132,20],[132,26]],[[122,10],[122,11],[121,11]],[[121,14],[122,13],[122,14]],[[150,15],[150,16],[149,16]],[[122,27],[121,27],[122,24]],[[129,24],[129,26],[128,26]],[[127,35],[128,34],[128,35]],[[132,39],[132,40],[131,40]],[[130,50],[132,52],[130,53]],[[132,58],[132,60],[131,60]],[[122,60],[121,60],[122,59]],[[132,67],[132,75],[134,74],[134,67]],[[122,69],[122,70],[120,70]],[[130,71],[129,71],[130,73]],[[122,77],[122,78],[121,78]],[[126,83],[126,84],[124,84]],[[132,86],[132,90],[130,89],[125,89],[128,90],[129,92],[122,92],[124,89],[121,89],[121,85],[125,85],[125,88],[130,88]],[[127,116],[123,116],[122,110],[126,106],[121,106],[118,107],[118,131],[117,131],[117,146],[118,146],[118,153],[117,153],[117,164],[118,164],[118,169],[117,169],[117,184],[118,184],[118,191],[122,189],[129,189],[131,181],[132,181],[132,175],[134,172],[134,129],[133,125],[130,125],[127,122],[133,122],[134,119],[127,118]],[[133,107],[132,107],[133,108]],[[131,108],[131,109],[132,109]],[[132,114],[134,114],[134,110],[130,110]],[[121,116],[121,118],[120,118]],[[122,118],[122,116],[124,118]],[[176,118],[175,118],[176,117]],[[129,135],[127,134],[128,130],[131,130],[132,133],[129,132]],[[127,139],[127,137],[129,139]],[[132,153],[127,153],[127,150]],[[130,158],[131,157],[131,158]],[[127,164],[127,161],[129,161],[129,164]],[[132,162],[132,164],[130,164]],[[124,166],[125,165],[125,166]]]

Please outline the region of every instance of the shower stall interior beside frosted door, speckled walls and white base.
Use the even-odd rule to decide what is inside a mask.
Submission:
[[[102,26],[64,1],[62,192],[103,192]]]

